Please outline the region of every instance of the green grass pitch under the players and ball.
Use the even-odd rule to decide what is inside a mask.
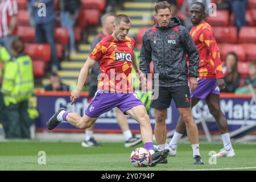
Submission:
[[[88,171],[168,171],[168,170],[256,170],[256,144],[236,144],[234,158],[217,158],[209,164],[209,151],[218,151],[221,143],[200,144],[204,165],[193,164],[192,148],[181,143],[175,157],[168,157],[168,164],[156,167],[135,168],[130,163],[134,148],[123,143],[101,143],[102,147],[83,148],[79,142],[38,142],[14,140],[0,142],[0,170],[88,170]],[[39,151],[46,152],[46,164],[39,165]],[[210,160],[213,162],[213,160]]]

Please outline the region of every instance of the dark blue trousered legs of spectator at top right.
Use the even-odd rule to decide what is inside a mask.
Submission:
[[[232,11],[234,13],[234,24],[239,32],[241,27],[246,26],[245,11],[248,0],[233,0],[231,2]]]

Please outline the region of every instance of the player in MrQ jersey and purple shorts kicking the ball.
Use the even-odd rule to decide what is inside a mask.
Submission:
[[[139,122],[144,148],[151,154],[149,166],[153,167],[167,157],[169,150],[154,152],[150,118],[145,106],[134,93],[131,82],[132,65],[138,75],[141,75],[141,81],[145,81],[135,58],[135,41],[126,36],[131,28],[130,18],[127,15],[118,15],[114,20],[113,28],[113,34],[103,38],[94,47],[93,52],[81,68],[77,88],[70,96],[72,105],[81,95],[82,86],[88,76],[89,69],[93,67],[96,61],[100,61],[101,75],[98,80],[98,90],[85,114],[81,117],[77,113],[69,113],[64,108],[60,108],[49,119],[47,127],[52,130],[60,122],[67,121],[79,129],[87,129],[96,122],[101,114],[118,107],[123,113],[130,115]]]

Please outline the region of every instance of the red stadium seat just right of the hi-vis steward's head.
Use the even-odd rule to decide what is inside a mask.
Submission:
[[[43,60],[46,62],[51,60],[51,47],[49,44],[27,43],[25,44],[24,52],[30,55],[32,60]]]

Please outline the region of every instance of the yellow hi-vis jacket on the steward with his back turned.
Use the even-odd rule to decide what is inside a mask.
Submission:
[[[20,54],[5,63],[1,92],[5,105],[27,101],[34,92],[31,57]]]

